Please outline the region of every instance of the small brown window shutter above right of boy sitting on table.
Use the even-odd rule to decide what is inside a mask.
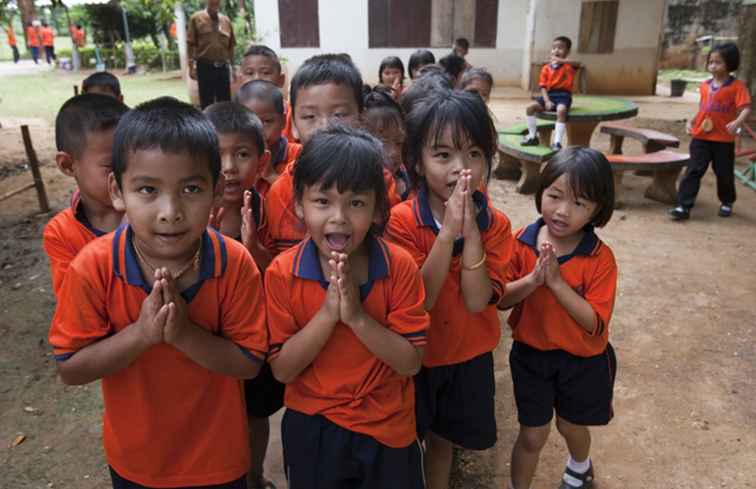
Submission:
[[[583,2],[580,10],[580,53],[614,52],[619,2]]]

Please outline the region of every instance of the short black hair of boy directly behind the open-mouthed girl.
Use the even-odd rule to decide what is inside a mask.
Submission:
[[[346,85],[354,94],[357,109],[362,112],[362,75],[345,54],[319,54],[302,64],[291,80],[291,113],[297,105],[297,94],[303,88],[325,83]]]

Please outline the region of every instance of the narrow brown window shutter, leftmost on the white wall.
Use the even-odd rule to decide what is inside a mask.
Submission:
[[[282,48],[319,48],[318,0],[278,0]]]

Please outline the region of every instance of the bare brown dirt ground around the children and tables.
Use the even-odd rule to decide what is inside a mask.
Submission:
[[[634,100],[640,117],[631,122],[680,136],[684,151],[683,120],[695,98]],[[522,119],[526,104],[524,92],[498,89],[492,108],[509,124]],[[0,122],[0,195],[31,181],[18,129],[28,123],[50,202],[63,208],[73,182],[54,168],[50,122]],[[596,131],[592,145],[606,149],[608,137]],[[630,141],[625,149],[640,152]],[[756,192],[738,183],[735,215],[718,218],[710,173],[693,219],[673,223],[666,206],[642,197],[647,181],[625,177],[625,206],[599,232],[620,268],[610,325],[619,372],[616,417],[593,431],[596,487],[756,487]],[[515,228],[537,217],[532,197],[518,194],[514,182],[495,180],[490,189]],[[105,488],[99,385],[62,385],[46,344],[55,303],[40,236],[50,216],[38,214],[33,191],[0,205],[0,487]],[[456,488],[506,487],[517,418],[504,332],[496,355],[499,441],[487,452],[457,454]],[[283,488],[277,424],[267,470]],[[554,432],[534,487],[556,487],[565,460]]]

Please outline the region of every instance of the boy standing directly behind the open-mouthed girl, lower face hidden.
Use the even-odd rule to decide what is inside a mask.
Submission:
[[[342,54],[322,54],[305,61],[291,81],[291,110],[302,144],[332,122],[358,125],[363,110],[362,75]],[[293,176],[296,161],[276,180],[265,198],[268,216],[266,243],[273,253],[294,246],[305,237],[295,213]],[[396,182],[388,170],[384,179],[389,205],[399,202]]]

